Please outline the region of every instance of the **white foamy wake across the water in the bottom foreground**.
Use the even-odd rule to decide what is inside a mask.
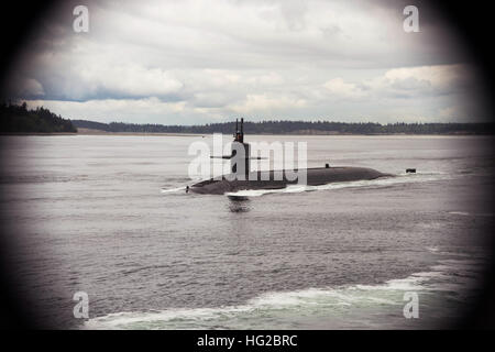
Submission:
[[[415,273],[406,278],[391,279],[378,285],[264,293],[238,306],[117,312],[89,319],[84,328],[268,330],[410,328],[403,316],[406,292],[417,293],[421,309],[428,310],[435,317],[452,318],[452,311],[457,311],[459,304],[469,299],[469,288],[473,287],[477,278],[480,265],[479,261],[472,258],[447,258],[439,261],[428,272]]]

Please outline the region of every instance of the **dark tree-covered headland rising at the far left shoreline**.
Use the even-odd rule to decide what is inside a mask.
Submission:
[[[77,132],[70,120],[63,119],[38,107],[29,110],[28,105],[0,103],[0,132],[2,133],[54,133]]]

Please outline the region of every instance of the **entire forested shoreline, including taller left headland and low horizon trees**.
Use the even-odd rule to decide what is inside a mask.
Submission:
[[[64,119],[45,109],[28,109],[26,103],[0,103],[2,133],[76,133],[78,129],[107,133],[233,133],[235,122],[201,125],[102,123],[89,120]],[[494,134],[494,123],[388,123],[271,120],[244,122],[249,134]]]

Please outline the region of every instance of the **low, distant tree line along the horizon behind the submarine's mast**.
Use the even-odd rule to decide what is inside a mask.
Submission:
[[[123,122],[101,123],[73,120],[77,128],[107,132],[141,133],[233,133],[235,122],[202,125],[135,124]],[[389,123],[331,122],[331,121],[261,121],[244,122],[244,132],[250,134],[494,134],[494,123]]]

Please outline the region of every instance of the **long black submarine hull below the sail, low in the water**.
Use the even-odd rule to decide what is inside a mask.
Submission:
[[[189,187],[189,191],[201,195],[223,195],[226,193],[235,193],[238,190],[246,189],[280,189],[287,187],[288,185],[295,185],[298,183],[297,179],[290,180],[289,175],[286,177],[284,170],[278,173],[282,173],[282,177],[278,177],[279,179],[275,179],[274,170],[252,172],[250,173],[248,180],[230,180],[228,176],[211,178],[193,185]],[[306,184],[308,186],[354,180],[370,180],[392,176],[373,168],[348,166],[308,168],[306,169]]]

